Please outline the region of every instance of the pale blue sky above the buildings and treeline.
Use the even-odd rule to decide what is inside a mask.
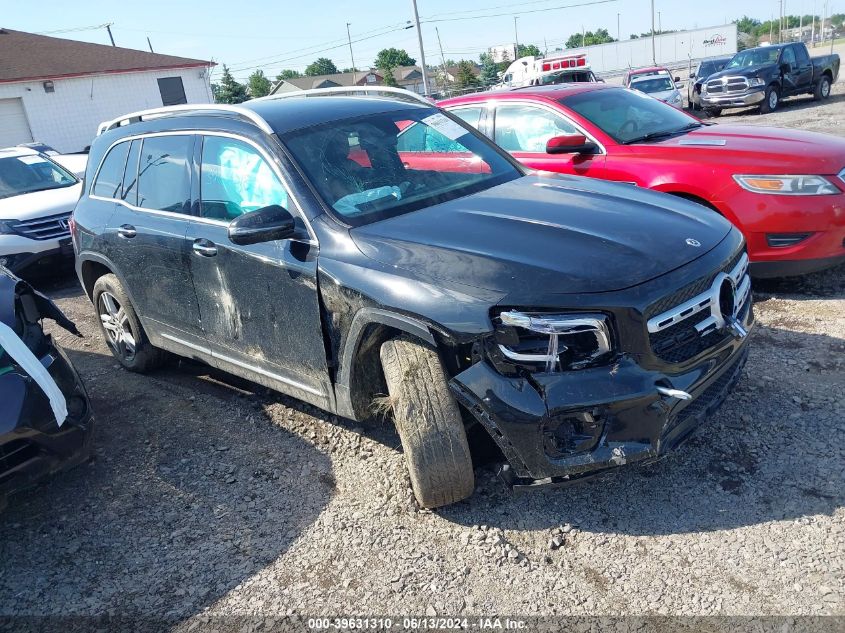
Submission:
[[[452,59],[477,59],[491,45],[513,42],[514,15],[518,15],[519,41],[541,49],[544,40],[552,49],[582,27],[588,31],[605,27],[615,37],[617,13],[621,14],[622,39],[651,28],[650,0],[604,0],[591,5],[586,3],[597,0],[417,2],[420,19],[427,22],[422,30],[428,63],[440,62],[435,27],[446,57]],[[113,22],[118,46],[146,49],[149,36],[156,52],[213,59],[227,64],[239,79],[254,67],[271,77],[281,68],[302,70],[321,56],[339,68],[351,66],[347,22],[357,67],[369,66],[376,53],[389,46],[404,48],[419,59],[416,31],[403,28],[412,19],[411,0],[5,0],[2,4],[0,26],[6,28],[108,44],[105,29],[50,32]],[[817,14],[822,4],[823,0],[816,0]],[[838,5],[845,5],[845,0],[832,4],[834,12],[842,10]],[[813,0],[786,0],[786,5],[788,13],[813,10]],[[723,24],[743,14],[767,19],[779,8],[778,0],[655,0],[655,11],[660,12],[664,29],[684,29]],[[481,18],[479,14],[501,15]],[[219,76],[219,68],[215,75]]]

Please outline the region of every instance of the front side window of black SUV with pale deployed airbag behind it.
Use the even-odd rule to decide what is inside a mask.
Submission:
[[[200,199],[202,217],[215,220],[274,204],[288,206],[284,186],[258,150],[223,136],[203,138]]]

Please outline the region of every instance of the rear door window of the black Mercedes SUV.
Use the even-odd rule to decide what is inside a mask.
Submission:
[[[188,213],[191,136],[150,136],[141,145],[138,161],[138,206]]]

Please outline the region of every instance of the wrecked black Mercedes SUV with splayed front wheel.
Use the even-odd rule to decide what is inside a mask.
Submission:
[[[473,427],[514,486],[660,457],[736,383],[753,320],[716,213],[530,173],[404,91],[104,123],[72,235],[125,368],[166,351],[387,411],[426,507],[472,493]]]

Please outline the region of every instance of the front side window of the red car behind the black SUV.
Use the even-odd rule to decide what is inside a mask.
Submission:
[[[500,105],[496,108],[494,140],[509,152],[545,153],[553,136],[579,134],[563,117],[543,108],[527,105]]]

